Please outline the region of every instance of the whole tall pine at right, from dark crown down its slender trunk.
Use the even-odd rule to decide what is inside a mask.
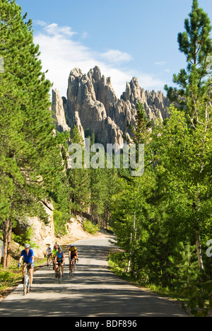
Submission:
[[[179,50],[183,52],[187,59],[187,70],[182,69],[178,75],[173,76],[174,83],[179,85],[177,88],[168,88],[167,97],[178,103],[179,107],[184,108],[187,117],[187,124],[192,127],[190,134],[199,147],[199,172],[196,176],[196,197],[193,206],[196,209],[196,221],[200,215],[199,204],[202,194],[200,186],[203,185],[206,160],[206,149],[208,149],[211,133],[211,76],[208,66],[211,63],[212,40],[211,22],[207,13],[199,8],[197,0],[193,0],[192,12],[189,18],[184,21],[184,33],[178,34]],[[199,139],[196,139],[199,136]],[[197,154],[197,153],[196,153]],[[198,166],[197,166],[198,169]],[[203,269],[201,257],[200,228],[196,227],[196,248],[199,258],[199,266]]]

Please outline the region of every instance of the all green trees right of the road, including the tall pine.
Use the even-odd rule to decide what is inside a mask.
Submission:
[[[189,18],[186,33],[178,36],[187,71],[174,76],[179,90],[166,88],[176,106],[170,106],[167,120],[154,123],[151,139],[146,132],[144,174],[122,176],[122,188],[112,197],[111,219],[131,277],[189,297],[191,313],[206,315],[211,292],[203,279],[211,278],[211,269],[201,248],[212,237],[211,79],[206,71],[211,26],[197,1]],[[140,110],[134,139],[142,141],[146,120]],[[123,259],[116,262],[122,272]]]

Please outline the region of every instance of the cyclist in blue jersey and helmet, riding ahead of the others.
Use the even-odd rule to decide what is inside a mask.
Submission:
[[[30,275],[30,291],[33,289],[33,267],[34,267],[34,252],[30,248],[30,244],[25,244],[25,249],[22,250],[20,253],[20,259],[18,262],[18,267],[20,267],[20,262],[23,260],[23,267],[22,267],[22,275],[23,279],[22,282],[24,281],[24,275],[25,275],[25,263],[29,263],[29,275]]]

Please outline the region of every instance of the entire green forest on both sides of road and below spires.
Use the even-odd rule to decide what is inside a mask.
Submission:
[[[42,202],[48,200],[54,204],[57,235],[65,234],[71,215],[89,213],[99,227],[115,233],[122,252],[111,259],[123,274],[143,286],[189,297],[193,314],[206,315],[212,307],[212,40],[207,13],[193,0],[184,32],[177,36],[185,69],[173,75],[177,87],[165,86],[172,102],[169,118],[150,122],[143,105],[137,105],[128,143],[144,145],[144,171],[135,177],[130,168],[67,166],[69,145],[83,149],[83,139],[77,127],[54,130],[52,83],[42,72],[32,21],[22,17],[16,1],[1,0],[0,15],[2,268],[9,263],[18,219],[39,216],[46,222]],[[93,144],[95,133],[89,138]]]

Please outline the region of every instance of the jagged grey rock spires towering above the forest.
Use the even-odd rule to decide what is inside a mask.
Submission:
[[[75,68],[69,75],[67,98],[61,98],[57,90],[52,91],[52,111],[59,131],[70,130],[73,125],[81,136],[95,133],[96,141],[104,144],[124,143],[123,134],[129,136],[126,123],[134,125],[136,105],[141,101],[150,120],[168,116],[170,105],[162,92],[144,91],[134,77],[126,83],[126,90],[117,98],[111,80],[100,73],[100,68],[83,74]]]

